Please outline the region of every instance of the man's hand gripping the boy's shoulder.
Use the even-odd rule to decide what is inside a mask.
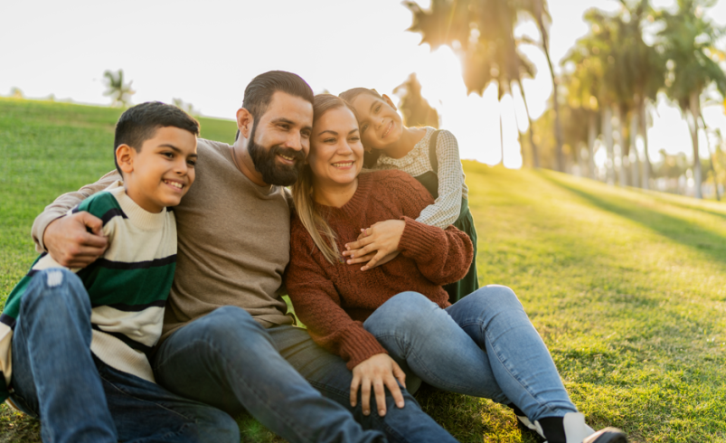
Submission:
[[[42,234],[52,259],[66,268],[85,268],[108,247],[103,222],[89,212],[76,212],[51,221]]]

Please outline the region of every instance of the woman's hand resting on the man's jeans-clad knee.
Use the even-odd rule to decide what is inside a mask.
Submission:
[[[375,403],[378,405],[378,415],[386,415],[386,393],[384,387],[391,391],[396,406],[403,408],[403,394],[396,379],[406,387],[406,374],[398,363],[385,353],[376,353],[372,357],[358,363],[353,368],[353,382],[351,382],[351,406],[358,403],[358,388],[361,388],[361,407],[363,415],[371,414],[371,386],[375,393]]]

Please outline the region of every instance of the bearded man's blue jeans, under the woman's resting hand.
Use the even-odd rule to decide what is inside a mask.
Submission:
[[[218,308],[175,331],[153,366],[170,391],[231,414],[248,410],[291,443],[456,441],[405,390],[403,409],[388,394],[384,417],[363,416],[360,401],[350,406],[353,375],[340,357],[305,329],[265,329],[240,307]]]

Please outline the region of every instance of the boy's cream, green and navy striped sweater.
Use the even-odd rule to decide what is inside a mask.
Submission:
[[[164,306],[176,266],[174,213],[146,212],[117,182],[71,212],[90,212],[103,221],[108,250],[83,269],[71,269],[88,290],[93,335],[90,350],[109,366],[154,382],[146,352],[159,339]],[[0,401],[12,375],[11,340],[20,301],[33,274],[61,268],[47,253],[7,297],[0,316]]]

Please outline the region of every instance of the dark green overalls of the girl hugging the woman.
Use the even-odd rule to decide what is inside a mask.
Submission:
[[[438,171],[438,158],[436,156],[436,141],[438,138],[438,131],[435,131],[429,141],[429,161],[434,171]],[[434,171],[427,171],[424,174],[420,174],[415,178],[429,190],[429,193],[436,199],[438,198],[438,174]],[[466,198],[461,198],[461,211],[458,214],[457,221],[454,221],[454,226],[457,229],[467,232],[469,239],[471,239],[474,245],[474,258],[471,260],[469,271],[467,275],[458,280],[456,283],[451,283],[444,286],[448,293],[448,301],[451,304],[456,303],[462,297],[471,294],[479,288],[479,280],[476,278],[476,228],[474,227],[474,219],[469,211],[469,204]]]

